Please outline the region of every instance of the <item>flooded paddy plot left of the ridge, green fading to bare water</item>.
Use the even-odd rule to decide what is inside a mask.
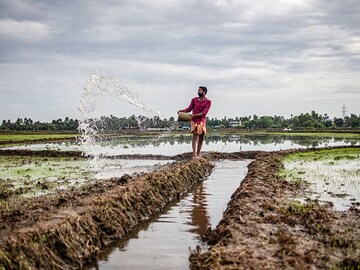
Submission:
[[[0,156],[0,198],[11,194],[32,197],[157,169],[170,160],[89,159],[70,157]]]

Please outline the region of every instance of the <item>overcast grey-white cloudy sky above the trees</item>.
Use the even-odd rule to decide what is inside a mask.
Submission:
[[[209,117],[359,115],[360,2],[0,0],[0,120],[79,118],[94,72],[165,117],[199,85]],[[101,113],[141,114],[106,95]]]

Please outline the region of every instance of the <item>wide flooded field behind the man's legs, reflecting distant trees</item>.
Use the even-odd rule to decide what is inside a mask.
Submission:
[[[162,154],[177,155],[191,151],[191,134],[176,136],[125,136],[103,139],[91,147],[90,154],[120,155],[120,154]],[[314,148],[338,145],[360,145],[360,136],[341,135],[281,135],[281,134],[210,134],[204,141],[204,151],[238,152],[238,151],[277,151],[295,148]],[[85,151],[80,143],[41,143],[18,146],[8,146],[4,149]]]

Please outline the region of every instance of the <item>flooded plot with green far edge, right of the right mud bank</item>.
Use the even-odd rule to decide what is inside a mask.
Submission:
[[[336,210],[360,203],[360,149],[333,149],[290,155],[283,175],[309,184],[311,199],[331,202]]]

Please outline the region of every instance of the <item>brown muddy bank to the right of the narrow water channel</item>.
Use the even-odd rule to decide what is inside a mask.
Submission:
[[[249,165],[223,219],[197,248],[191,269],[360,269],[360,211],[335,212],[316,201],[294,202],[305,192],[277,176],[281,158],[262,153]]]

